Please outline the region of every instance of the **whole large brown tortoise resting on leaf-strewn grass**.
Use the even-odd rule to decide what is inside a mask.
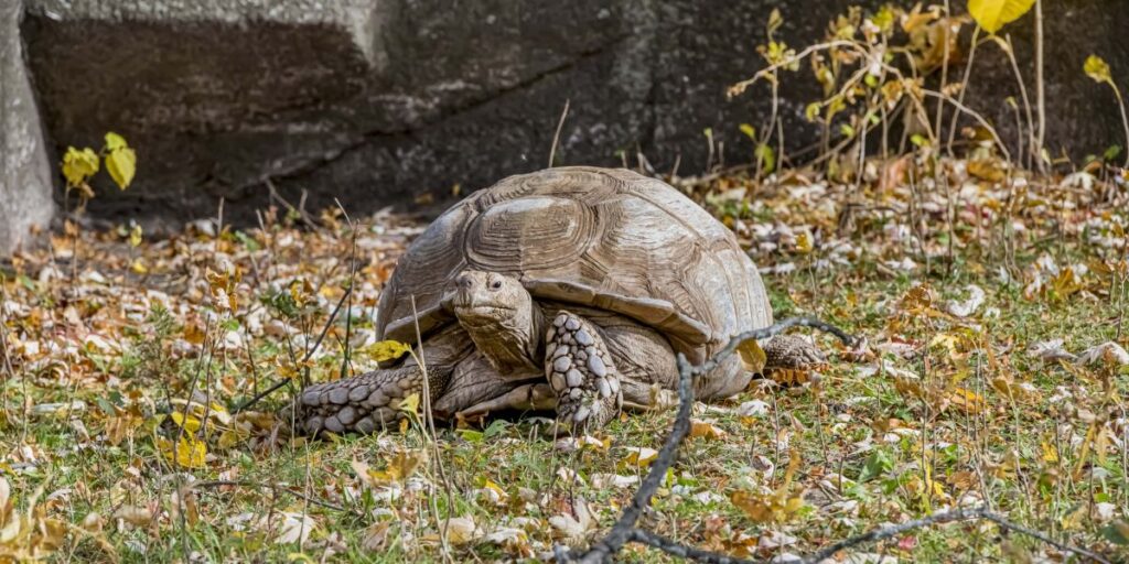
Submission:
[[[510,176],[436,219],[380,296],[377,337],[420,343],[425,368],[408,355],[310,386],[298,418],[314,434],[371,432],[426,385],[438,418],[555,408],[595,428],[672,403],[676,353],[698,363],[770,324],[736,237],[666,183],[592,167]],[[796,336],[763,349],[769,369],[823,361]],[[695,379],[695,397],[732,396],[753,376],[730,358]]]

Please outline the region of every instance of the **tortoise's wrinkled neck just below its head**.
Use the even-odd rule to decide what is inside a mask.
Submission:
[[[475,347],[504,374],[543,370],[545,315],[530,300],[515,315],[490,324],[465,323]]]

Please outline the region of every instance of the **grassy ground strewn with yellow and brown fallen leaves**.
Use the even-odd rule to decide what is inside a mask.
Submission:
[[[747,182],[723,178],[711,190]],[[764,200],[789,197],[781,187]],[[645,527],[695,546],[771,557],[988,502],[1056,538],[1129,557],[1111,540],[1129,506],[1126,369],[1048,362],[1027,352],[1054,338],[1073,353],[1119,338],[1123,306],[1109,275],[1092,267],[1077,280],[1048,279],[1035,291],[1031,284],[1041,257],[1060,268],[1115,266],[1115,255],[1084,243],[1079,226],[1123,212],[1092,206],[1061,224],[1060,210],[1024,217],[1033,226],[1030,244],[1014,257],[1012,280],[1001,281],[998,249],[968,223],[955,230],[961,240],[946,275],[944,227],[925,241],[933,272],[922,272],[924,264],[902,272],[887,263],[924,261],[913,245],[883,235],[896,217],[872,217],[856,232],[823,237],[806,250],[787,233],[750,235],[751,218],[830,232],[834,217],[802,205],[773,209],[717,212],[746,243],[778,243],[759,252],[762,266],[795,265],[765,275],[777,316],[817,315],[867,336],[872,354],[848,359],[821,337],[833,354],[817,382],[760,382],[727,402],[699,405],[695,417],[723,434],[688,440]],[[374,365],[366,351],[379,282],[418,228],[379,218],[357,233],[367,249],[358,280],[367,284],[356,287],[349,334],[335,323],[323,350],[299,365],[348,281],[353,233],[334,219],[323,218],[324,232],[280,221],[215,237],[190,230],[138,248],[114,233],[84,233],[85,274],[75,283],[43,275],[50,256],[17,257],[3,283],[12,373],[3,388],[0,473],[10,484],[12,514],[29,515],[28,523],[47,532],[0,544],[0,555],[55,562],[544,558],[554,543],[580,546],[610,526],[646,472],[634,449],[657,449],[673,412],[624,416],[579,449],[552,438],[546,414],[510,414],[484,429],[440,425],[434,444],[418,422],[403,433],[312,442],[279,435],[271,414],[281,396],[255,407],[263,412],[228,418],[277,377],[308,369],[314,380],[336,378],[347,340],[353,342],[350,371]],[[1047,239],[1059,228],[1062,235]],[[852,249],[833,250],[837,240]],[[56,258],[73,250],[67,245],[69,238],[55,241]],[[815,267],[837,256],[846,264]],[[224,270],[225,261],[237,267]],[[984,302],[969,317],[946,312],[946,300],[965,299],[969,284],[984,290]],[[165,314],[155,314],[157,303]],[[1120,338],[1124,344],[1123,333]],[[176,468],[160,440],[175,441],[181,432],[163,414],[170,405],[183,411],[176,399],[192,389],[215,403],[207,416],[196,412],[191,420],[200,431],[190,425],[184,432],[199,438],[207,458]],[[49,405],[72,400],[85,407]],[[250,485],[192,490],[190,476]],[[443,548],[438,523],[448,517],[457,519],[448,522]],[[1038,541],[983,523],[920,530],[863,550],[914,562],[1052,556]],[[640,547],[629,547],[623,559],[669,561]]]

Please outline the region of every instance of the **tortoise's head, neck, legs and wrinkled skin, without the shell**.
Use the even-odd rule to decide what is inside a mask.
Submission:
[[[502,409],[552,409],[572,428],[598,428],[624,406],[672,405],[675,354],[666,337],[628,317],[592,308],[539,302],[522,283],[466,271],[445,300],[457,319],[428,337],[415,360],[356,378],[312,386],[298,400],[308,433],[361,433],[404,417],[400,399],[425,393],[440,418]],[[764,345],[767,369],[823,362],[809,343],[778,336]],[[730,359],[695,381],[701,399],[743,390],[754,374]]]

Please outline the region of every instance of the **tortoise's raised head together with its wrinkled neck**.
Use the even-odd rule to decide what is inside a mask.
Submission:
[[[452,282],[450,310],[479,351],[502,373],[534,368],[544,324],[541,308],[516,277],[463,271]]]

